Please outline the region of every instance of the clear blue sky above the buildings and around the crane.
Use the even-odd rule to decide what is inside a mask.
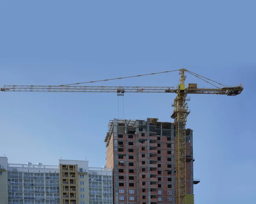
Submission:
[[[196,204],[252,203],[255,194],[255,0],[1,1],[0,86],[60,85],[186,68],[236,97],[191,95]],[[177,72],[95,83],[176,86]],[[186,83],[211,87],[188,75]],[[173,121],[175,94],[127,93],[119,118]],[[124,110],[123,110],[124,100]],[[105,165],[115,93],[0,93],[0,156],[10,163]],[[72,139],[68,139],[72,138]]]

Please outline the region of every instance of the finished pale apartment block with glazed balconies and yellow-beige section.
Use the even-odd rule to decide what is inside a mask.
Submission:
[[[0,204],[112,204],[112,169],[88,161],[9,164],[0,157]]]

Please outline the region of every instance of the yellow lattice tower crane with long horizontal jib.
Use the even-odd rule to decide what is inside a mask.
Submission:
[[[174,119],[176,128],[176,204],[186,204],[186,121],[187,115],[189,115],[189,109],[186,101],[188,94],[215,94],[215,95],[227,95],[236,96],[243,91],[241,84],[239,86],[227,86],[222,83],[205,78],[187,69],[179,69],[174,71],[180,71],[180,82],[177,87],[145,87],[145,86],[3,86],[0,91],[6,92],[116,92],[117,95],[124,95],[128,92],[138,93],[176,93],[177,96],[174,99],[174,111],[171,118]],[[172,72],[172,71],[168,71]],[[189,83],[188,87],[185,86],[186,75],[185,72],[192,74],[205,82],[215,86],[213,83],[218,83],[222,87],[215,86],[215,88],[198,88],[196,83]],[[147,75],[159,74],[164,72],[152,73]],[[143,75],[137,75],[132,77],[140,77]],[[124,77],[131,78],[131,77]],[[116,78],[121,79],[121,78]],[[114,80],[114,79],[110,79]],[[99,80],[105,81],[105,80]],[[209,82],[211,81],[211,82]],[[91,81],[97,82],[97,81]],[[91,83],[86,82],[86,83]],[[80,84],[80,83],[76,83]]]

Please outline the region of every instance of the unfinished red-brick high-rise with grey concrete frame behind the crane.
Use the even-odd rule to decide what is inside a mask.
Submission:
[[[175,204],[175,126],[157,118],[109,123],[107,167],[114,204]],[[193,200],[193,137],[186,129],[186,194]]]

